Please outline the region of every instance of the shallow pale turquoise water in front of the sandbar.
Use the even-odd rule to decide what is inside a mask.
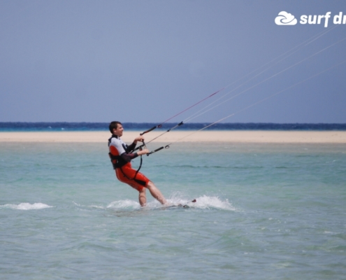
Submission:
[[[0,144],[0,279],[345,279],[345,145],[175,144],[142,209],[106,141]]]

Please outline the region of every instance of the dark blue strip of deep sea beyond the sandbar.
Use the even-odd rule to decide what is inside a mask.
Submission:
[[[165,123],[168,130],[178,123]],[[15,131],[108,131],[109,123],[1,123],[0,132]],[[149,130],[159,123],[123,123],[126,130]],[[201,130],[210,123],[185,123],[175,130]],[[346,123],[216,123],[206,130],[346,130]]]

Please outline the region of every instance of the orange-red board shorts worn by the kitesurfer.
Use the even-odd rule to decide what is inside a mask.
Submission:
[[[147,183],[149,183],[149,179],[144,174],[140,172],[136,175],[136,170],[132,169],[131,162],[127,162],[126,165],[122,166],[121,169],[115,169],[115,174],[117,174],[117,179],[122,183],[127,183],[132,188],[138,190],[138,192],[142,191],[143,188],[147,187]],[[136,175],[136,178],[134,176]]]

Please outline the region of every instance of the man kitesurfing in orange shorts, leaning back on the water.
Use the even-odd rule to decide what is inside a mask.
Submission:
[[[138,172],[138,170],[136,171],[131,167],[131,160],[137,158],[138,155],[146,155],[149,153],[146,148],[142,151],[138,151],[137,153],[131,153],[136,148],[138,141],[144,141],[144,137],[136,137],[134,142],[128,146],[127,144],[124,144],[122,139],[120,139],[120,137],[122,137],[122,133],[124,132],[122,123],[117,121],[111,122],[109,125],[109,130],[112,134],[112,137],[108,139],[109,156],[113,164],[113,168],[115,169],[117,179],[138,190],[138,200],[140,206],[144,207],[147,202],[145,195],[146,189],[148,189],[152,197],[159,200],[161,204],[166,204],[166,199],[161,194],[160,190],[154,185],[154,183],[147,179],[145,175]]]

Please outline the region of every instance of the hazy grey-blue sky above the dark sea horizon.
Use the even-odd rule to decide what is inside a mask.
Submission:
[[[296,25],[276,25],[282,11]],[[328,27],[300,22],[327,12]],[[345,0],[0,0],[0,121],[161,123],[226,87],[179,122],[243,92],[193,120],[212,123],[335,66],[224,121],[346,123],[340,12]]]

